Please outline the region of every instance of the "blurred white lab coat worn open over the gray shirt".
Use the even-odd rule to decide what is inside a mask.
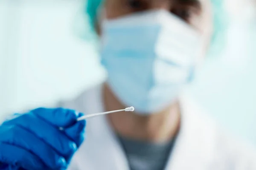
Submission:
[[[181,128],[165,170],[256,170],[256,156],[225,136],[212,119],[181,99]],[[104,111],[102,85],[63,102],[83,113]],[[86,139],[69,170],[129,170],[128,161],[105,116],[87,120]]]

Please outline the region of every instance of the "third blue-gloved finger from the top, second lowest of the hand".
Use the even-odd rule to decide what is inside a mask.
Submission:
[[[52,147],[23,127],[2,125],[0,136],[0,142],[21,147],[35,154],[49,169],[60,169],[67,166],[65,159],[59,156]]]

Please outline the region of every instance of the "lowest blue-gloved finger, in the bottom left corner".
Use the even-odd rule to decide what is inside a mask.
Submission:
[[[0,161],[8,167],[23,167],[26,170],[45,170],[45,164],[34,154],[23,148],[0,142]]]

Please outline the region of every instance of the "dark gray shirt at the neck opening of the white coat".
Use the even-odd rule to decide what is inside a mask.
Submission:
[[[117,136],[122,144],[131,170],[164,170],[174,140],[150,143]]]

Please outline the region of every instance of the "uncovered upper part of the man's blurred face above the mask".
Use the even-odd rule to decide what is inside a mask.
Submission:
[[[152,9],[170,11],[198,30],[202,34],[206,51],[212,35],[210,0],[105,0],[105,17],[107,19]]]

